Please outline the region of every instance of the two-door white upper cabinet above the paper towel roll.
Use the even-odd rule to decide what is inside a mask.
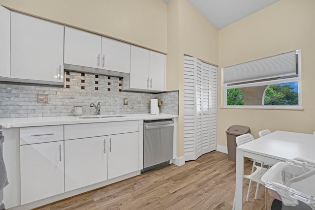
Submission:
[[[130,90],[165,91],[165,55],[131,45]]]

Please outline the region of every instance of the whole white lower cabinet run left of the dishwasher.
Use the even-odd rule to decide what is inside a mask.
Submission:
[[[21,205],[140,171],[142,142],[139,120],[20,128]]]

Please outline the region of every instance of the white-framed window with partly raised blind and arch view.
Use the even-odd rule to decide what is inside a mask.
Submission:
[[[224,107],[301,108],[301,50],[222,68]]]

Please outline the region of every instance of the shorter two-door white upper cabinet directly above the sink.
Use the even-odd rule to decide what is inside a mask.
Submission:
[[[65,27],[64,63],[129,73],[130,45]]]

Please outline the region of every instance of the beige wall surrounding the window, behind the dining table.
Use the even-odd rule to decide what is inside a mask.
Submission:
[[[234,124],[263,129],[313,133],[315,130],[315,1],[281,0],[219,30],[220,69],[292,50],[302,50],[302,106],[298,110],[218,109],[218,145]],[[219,78],[221,80],[221,77]],[[219,81],[220,81],[219,80]],[[218,94],[221,101],[221,92]]]

